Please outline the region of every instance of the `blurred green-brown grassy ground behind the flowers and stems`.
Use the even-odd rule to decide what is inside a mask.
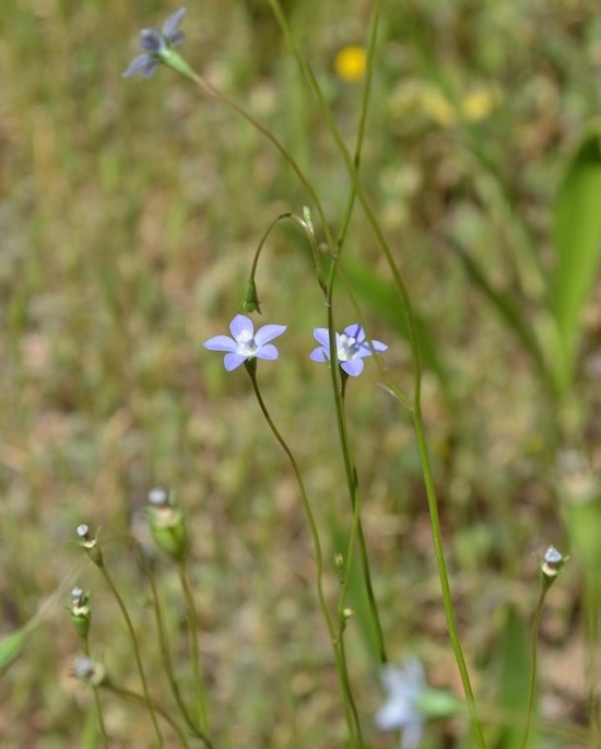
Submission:
[[[286,8],[352,142],[361,87],[335,74],[334,58],[365,43],[370,3],[288,0]],[[219,746],[340,746],[335,672],[294,481],[246,378],[225,376],[221,358],[201,348],[225,330],[269,222],[300,212],[307,196],[267,142],[170,71],[121,79],[138,54],[139,28],[174,10],[118,0],[3,0],[0,9],[2,633],[30,619],[76,565],[79,523],[122,535],[135,526],[148,490],[162,483],[177,490],[193,530]],[[193,3],[184,28],[189,61],[279,134],[337,227],[347,178],[267,3]],[[512,230],[487,202],[469,121],[550,266],[555,186],[600,100],[601,16],[592,1],[386,5],[362,169],[450,373],[452,403],[426,374],[425,412],[459,621],[480,669],[476,689],[490,699],[506,607],[525,617],[533,607],[532,553],[567,543],[555,473],[565,445],[530,363],[470,288],[441,230],[479,247],[499,284],[515,283]],[[358,213],[347,253],[384,272]],[[329,381],[307,359],[325,309],[299,232],[272,234],[258,280],[266,320],[288,325],[281,360],[261,366],[266,397],[297,452],[322,527],[332,518],[344,524]],[[340,305],[343,325],[352,313]],[[600,320],[597,295],[577,382],[586,414],[578,448],[593,460]],[[370,332],[390,343],[387,366],[409,386],[404,342],[376,319]],[[437,683],[456,686],[411,421],[376,384],[375,367],[352,384],[350,420],[389,652],[419,653]],[[338,549],[327,547],[332,559]],[[135,620],[146,621],[134,561],[118,543],[107,553]],[[163,561],[157,574],[173,594],[175,637],[185,621],[176,581]],[[135,686],[129,643],[101,581],[85,567],[75,582],[92,590],[97,654]],[[556,587],[543,631],[543,669],[553,664],[543,707],[581,719],[576,569]],[[55,607],[0,682],[3,747],[84,746],[91,695],[69,676],[78,642],[66,620]],[[146,635],[149,669],[157,670],[148,628]],[[350,639],[369,722],[377,675],[361,635],[352,630]],[[137,709],[109,702],[107,711],[114,746],[132,746],[133,734],[137,746],[151,745]],[[455,746],[457,730],[440,727],[428,746]]]

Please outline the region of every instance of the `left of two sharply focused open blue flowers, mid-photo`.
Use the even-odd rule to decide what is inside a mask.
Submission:
[[[285,325],[263,325],[255,332],[252,320],[246,315],[236,315],[229,324],[232,338],[214,336],[202,346],[210,351],[226,351],[223,364],[232,372],[250,359],[278,359],[278,349],[270,343],[286,329]]]

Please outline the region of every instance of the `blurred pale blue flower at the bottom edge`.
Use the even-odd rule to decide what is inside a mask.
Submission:
[[[375,717],[380,730],[401,730],[401,749],[416,749],[424,734],[425,716],[420,701],[428,689],[424,668],[417,658],[401,666],[386,665],[381,672],[388,694]]]

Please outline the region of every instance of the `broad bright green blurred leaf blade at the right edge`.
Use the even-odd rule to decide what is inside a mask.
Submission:
[[[591,292],[601,250],[601,121],[591,125],[569,161],[553,215],[557,264],[551,278],[565,382],[574,358],[584,306]]]

